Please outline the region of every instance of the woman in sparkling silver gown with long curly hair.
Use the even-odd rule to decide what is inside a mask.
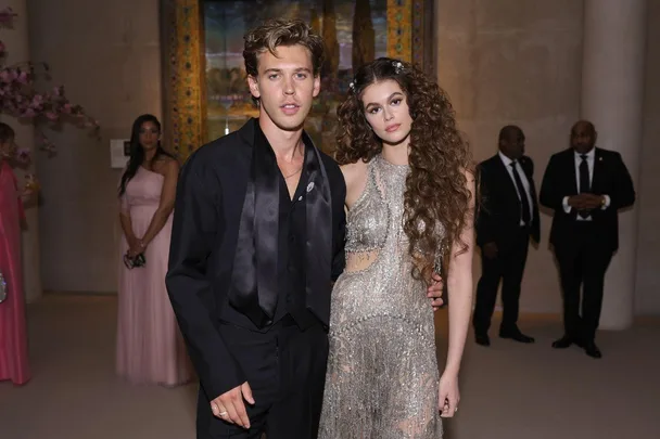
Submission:
[[[338,114],[346,269],[332,292],[319,437],[441,438],[441,417],[458,410],[472,301],[468,146],[445,93],[396,60],[358,69]],[[440,267],[449,294],[442,376],[426,298]]]

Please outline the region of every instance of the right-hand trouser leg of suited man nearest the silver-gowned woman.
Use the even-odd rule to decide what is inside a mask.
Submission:
[[[520,288],[528,260],[529,244],[529,232],[526,229],[521,229],[516,237],[511,237],[510,250],[505,256],[502,281],[502,331],[515,331],[518,327]]]

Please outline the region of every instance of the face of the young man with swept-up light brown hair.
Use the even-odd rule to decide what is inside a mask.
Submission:
[[[280,46],[276,54],[259,54],[257,77],[248,77],[248,83],[252,95],[259,100],[259,117],[294,131],[303,127],[309,114],[320,78],[314,77],[312,54],[305,47]]]

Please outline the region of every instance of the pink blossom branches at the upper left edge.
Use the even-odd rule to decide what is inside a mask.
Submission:
[[[11,8],[0,10],[0,28],[11,28],[16,16]],[[46,122],[51,127],[69,121],[78,127],[89,128],[97,137],[99,135],[99,122],[80,105],[68,101],[63,86],[53,87],[50,91],[37,90],[35,87],[37,73],[42,70],[48,77],[48,64],[22,62],[5,65],[7,53],[5,44],[0,41],[0,113],[22,120]],[[41,149],[54,153],[55,145],[43,134],[38,124],[36,129]]]

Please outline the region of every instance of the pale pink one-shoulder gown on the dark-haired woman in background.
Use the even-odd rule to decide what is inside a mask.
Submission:
[[[126,185],[122,209],[130,214],[132,230],[141,237],[161,201],[164,177],[140,167]],[[192,378],[192,369],[165,288],[172,216],[147,247],[143,267],[129,270],[122,234],[117,374],[135,384],[176,386]]]

